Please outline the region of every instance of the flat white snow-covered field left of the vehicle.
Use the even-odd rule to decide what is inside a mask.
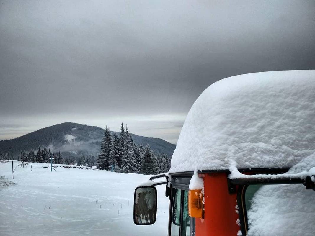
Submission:
[[[14,162],[14,167],[17,162]],[[4,235],[166,235],[169,201],[157,186],[157,221],[133,223],[133,194],[149,176],[33,163],[14,171],[14,185],[0,189],[0,234]],[[0,163],[12,181],[12,165]],[[96,203],[97,201],[97,203]],[[119,213],[119,214],[118,214]]]

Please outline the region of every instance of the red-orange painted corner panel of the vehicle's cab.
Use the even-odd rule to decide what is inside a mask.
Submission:
[[[236,193],[229,194],[225,173],[205,174],[204,219],[196,218],[196,236],[236,236]]]

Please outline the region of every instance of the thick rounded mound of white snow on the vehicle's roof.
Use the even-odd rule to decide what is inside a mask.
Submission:
[[[291,167],[315,151],[315,70],[232,76],[189,111],[170,172]]]

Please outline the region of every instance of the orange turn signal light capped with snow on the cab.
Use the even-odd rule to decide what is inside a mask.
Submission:
[[[188,192],[188,214],[190,217],[203,219],[203,192],[202,190],[189,190]]]

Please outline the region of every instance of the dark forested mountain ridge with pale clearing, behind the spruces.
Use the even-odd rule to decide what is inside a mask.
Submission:
[[[49,148],[52,152],[60,151],[63,156],[95,154],[100,149],[104,131],[97,126],[65,122],[39,129],[19,138],[1,140],[0,151],[13,154],[15,158],[20,155],[21,151],[34,149],[36,152],[38,147]],[[176,147],[175,144],[161,138],[147,138],[136,134],[131,134],[131,136],[136,144],[142,142],[143,145],[146,145],[148,143],[155,152],[164,152],[169,157],[173,155]]]

